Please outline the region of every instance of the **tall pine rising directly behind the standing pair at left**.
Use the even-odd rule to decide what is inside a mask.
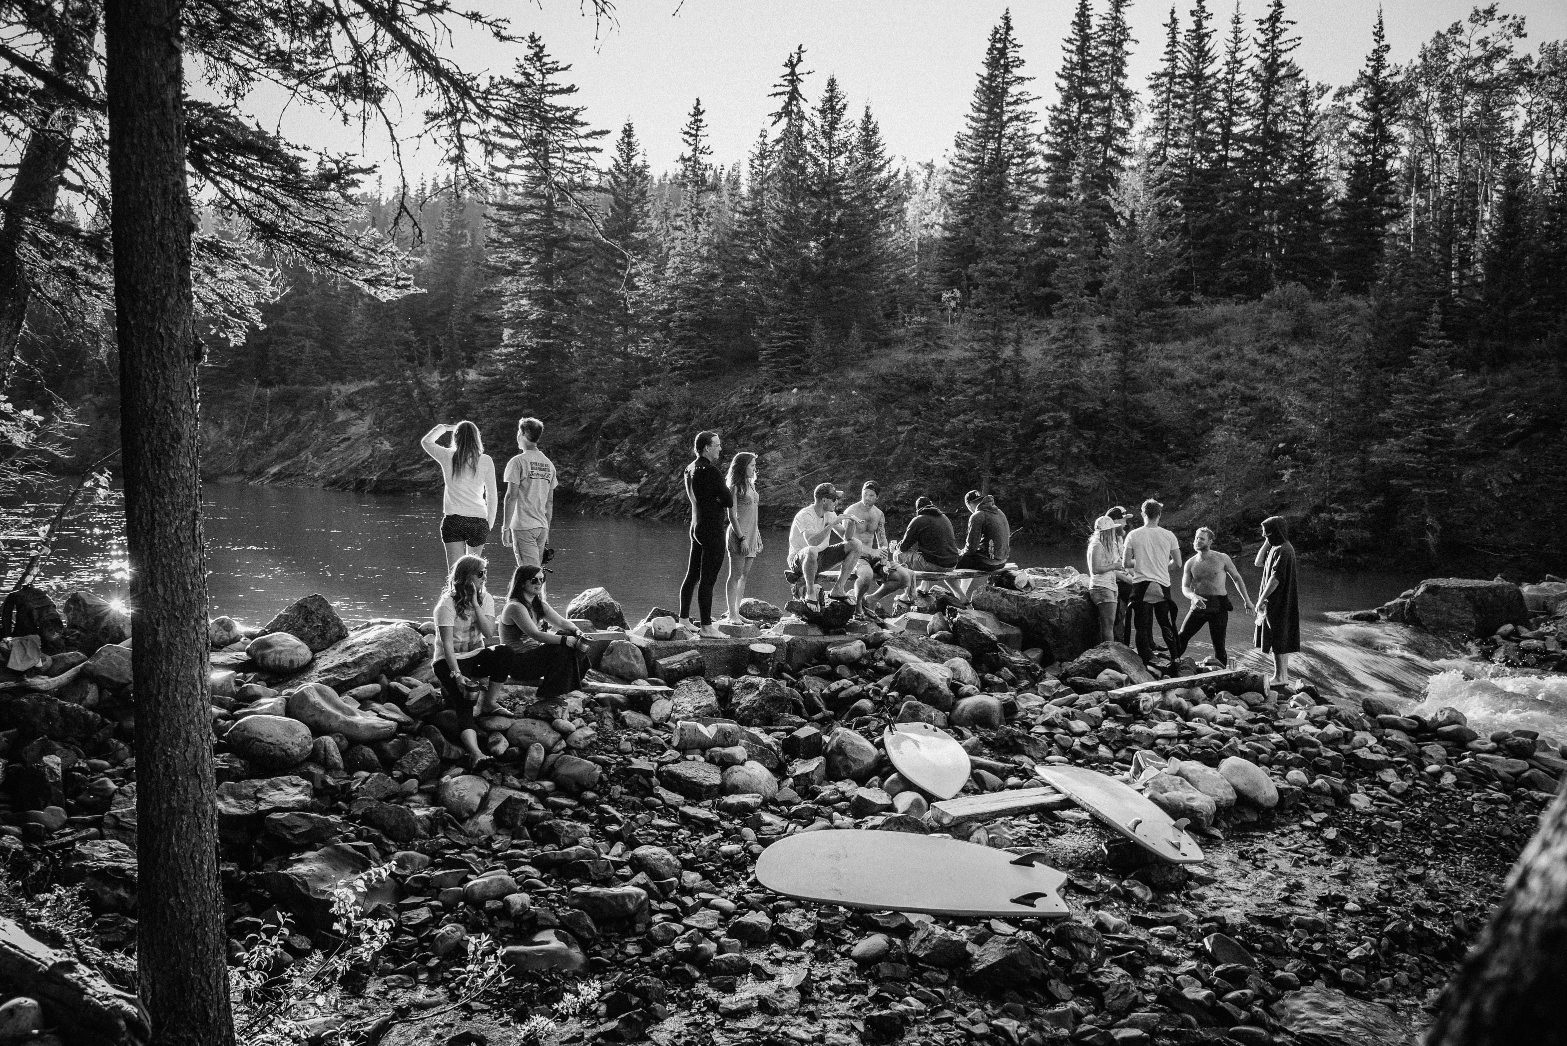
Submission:
[[[497,353],[498,387],[517,405],[569,392],[578,328],[592,304],[584,292],[594,245],[577,209],[595,180],[594,143],[608,132],[591,130],[583,107],[572,105],[577,86],[563,80],[569,71],[533,33],[514,74],[501,80],[520,130],[503,141],[508,194],[495,202],[490,265],[509,329]]]

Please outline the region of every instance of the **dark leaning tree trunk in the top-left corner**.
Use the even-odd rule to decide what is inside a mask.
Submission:
[[[92,61],[92,38],[97,35],[97,5],[92,0],[67,0],[58,13],[60,31],[53,39],[50,71],[74,85],[81,85]],[[22,268],[22,237],[28,220],[55,213],[60,179],[71,160],[71,132],[77,125],[77,104],[42,86],[47,99],[39,121],[22,151],[22,160],[11,182],[11,199],[0,221],[0,390],[11,381],[11,365],[27,303],[33,296],[31,281]]]

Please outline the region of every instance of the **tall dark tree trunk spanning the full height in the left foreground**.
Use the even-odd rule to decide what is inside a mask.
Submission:
[[[110,193],[136,690],[141,994],[160,1046],[229,1015],[202,555],[182,0],[108,0]]]

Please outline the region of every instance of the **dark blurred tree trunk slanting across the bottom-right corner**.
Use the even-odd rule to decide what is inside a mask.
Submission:
[[[1567,794],[1507,875],[1501,906],[1448,983],[1426,1046],[1564,1046]]]

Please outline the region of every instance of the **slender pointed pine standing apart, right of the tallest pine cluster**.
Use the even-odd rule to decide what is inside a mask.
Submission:
[[[1337,270],[1349,293],[1363,293],[1376,279],[1382,238],[1398,215],[1398,82],[1387,63],[1388,44],[1377,9],[1371,53],[1355,77],[1344,194],[1338,204]]]

